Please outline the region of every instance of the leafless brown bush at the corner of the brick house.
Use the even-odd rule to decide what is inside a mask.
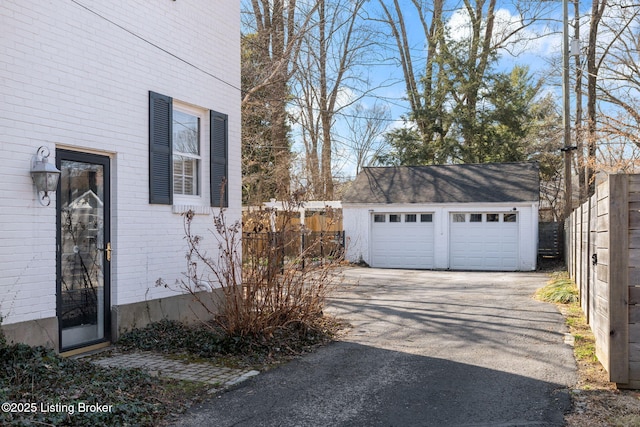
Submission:
[[[333,253],[331,262],[311,257],[318,245],[326,244],[321,239],[305,248],[298,246],[297,253],[289,250],[299,245],[305,230],[290,220],[286,210],[278,219],[272,214],[253,213],[252,221],[266,223],[274,231],[268,232],[270,239],[245,250],[244,257],[242,224],[227,224],[224,210],[214,216],[210,230],[216,256],[209,256],[202,249],[203,238],[193,234],[193,213],[184,216],[187,272],[177,285],[191,293],[229,336],[268,337],[292,326],[303,332],[315,329],[323,324],[326,298],[339,283],[341,252]],[[166,286],[162,280],[159,284]]]

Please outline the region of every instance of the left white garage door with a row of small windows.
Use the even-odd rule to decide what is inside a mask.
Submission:
[[[433,214],[374,214],[371,265],[433,268]]]

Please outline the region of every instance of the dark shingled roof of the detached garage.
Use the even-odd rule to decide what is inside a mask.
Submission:
[[[537,163],[369,167],[343,203],[533,202],[539,198]]]

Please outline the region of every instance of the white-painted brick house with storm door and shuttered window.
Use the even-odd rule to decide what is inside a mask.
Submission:
[[[231,0],[2,2],[9,340],[67,352],[197,311],[155,282],[186,269],[181,213],[204,236],[212,210],[241,215],[239,27]],[[44,197],[30,170],[47,154],[61,175]]]

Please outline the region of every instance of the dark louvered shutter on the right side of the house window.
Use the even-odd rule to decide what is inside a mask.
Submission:
[[[228,129],[227,115],[211,111],[211,206],[229,206],[227,182]]]

